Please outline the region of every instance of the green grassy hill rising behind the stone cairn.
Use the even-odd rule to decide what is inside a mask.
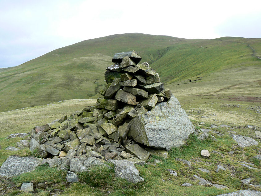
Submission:
[[[143,58],[141,62],[149,62],[162,82],[169,85],[184,83],[186,79],[208,79],[210,74],[238,67],[243,70],[243,67],[255,67],[255,78],[260,78],[261,60],[256,56],[261,56],[261,39],[190,40],[140,33],[112,35],[85,40],[22,65],[0,69],[0,112],[97,97],[113,54],[131,50],[136,50]],[[230,80],[234,76],[231,73]],[[244,79],[248,75],[241,77]]]

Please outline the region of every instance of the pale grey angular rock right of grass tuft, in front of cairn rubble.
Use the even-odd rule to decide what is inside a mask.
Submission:
[[[126,179],[131,183],[143,182],[144,178],[140,177],[139,171],[131,161],[124,160],[109,160],[115,165],[115,176]]]

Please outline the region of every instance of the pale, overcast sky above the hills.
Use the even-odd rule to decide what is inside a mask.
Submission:
[[[260,7],[260,0],[0,0],[0,68],[121,33],[261,38]]]

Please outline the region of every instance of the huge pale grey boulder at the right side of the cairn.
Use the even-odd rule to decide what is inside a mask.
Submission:
[[[168,151],[171,147],[185,144],[194,132],[192,122],[174,96],[168,102],[156,104],[149,112],[138,114],[129,123],[130,138],[146,146]]]

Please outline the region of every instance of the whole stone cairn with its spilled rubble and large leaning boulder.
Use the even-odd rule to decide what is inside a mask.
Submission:
[[[82,168],[90,157],[99,164],[144,164],[150,152],[185,144],[194,132],[187,113],[163,87],[158,73],[140,60],[135,51],[116,53],[115,64],[105,72],[107,84],[100,92],[104,98],[68,117],[35,126],[28,133],[30,140],[21,140],[18,147],[30,148],[50,166],[73,172],[78,171],[70,168],[73,159],[79,167],[82,161]]]

